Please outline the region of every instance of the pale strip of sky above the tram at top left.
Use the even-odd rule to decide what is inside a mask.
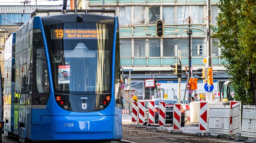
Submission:
[[[24,6],[23,2],[27,2],[28,5],[61,5],[63,4],[63,0],[0,0],[0,6],[3,5],[15,5],[15,6]],[[22,3],[21,3],[22,2]],[[26,4],[27,5],[27,4]],[[67,0],[67,5],[70,5],[70,0]]]

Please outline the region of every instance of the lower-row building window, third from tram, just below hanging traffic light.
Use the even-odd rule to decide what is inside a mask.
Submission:
[[[149,57],[160,57],[160,39],[150,39],[149,43]]]

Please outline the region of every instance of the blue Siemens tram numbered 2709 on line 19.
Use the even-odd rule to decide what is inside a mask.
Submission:
[[[122,139],[118,18],[34,17],[5,45],[4,121],[20,142]]]

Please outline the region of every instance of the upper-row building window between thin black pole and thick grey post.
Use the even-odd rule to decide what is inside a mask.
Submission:
[[[203,23],[203,6],[191,6],[193,24]]]

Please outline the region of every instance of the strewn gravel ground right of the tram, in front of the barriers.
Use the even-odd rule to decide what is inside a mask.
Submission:
[[[171,133],[168,131],[156,131],[123,124],[123,139],[120,142],[127,143],[237,143],[237,141],[217,138],[217,136],[197,136],[190,133]]]

